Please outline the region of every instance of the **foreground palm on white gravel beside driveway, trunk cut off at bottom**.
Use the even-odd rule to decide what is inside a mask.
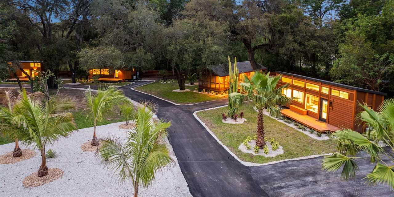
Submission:
[[[128,131],[128,139],[123,144],[120,138],[107,137],[100,147],[99,155],[108,161],[109,169],[119,172],[121,181],[130,180],[134,187],[134,197],[138,187],[152,184],[156,171],[163,169],[173,160],[167,145],[160,139],[167,136],[171,122],[154,123],[154,113],[149,106],[138,108],[134,115],[136,126]]]

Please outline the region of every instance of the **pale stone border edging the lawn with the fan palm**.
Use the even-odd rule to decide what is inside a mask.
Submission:
[[[245,162],[240,160],[240,158],[238,158],[233,152],[230,151],[230,149],[224,145],[219,138],[217,138],[215,136],[215,134],[208,128],[208,126],[205,125],[205,123],[199,119],[199,117],[197,116],[198,112],[202,112],[202,111],[207,111],[207,110],[213,110],[213,109],[217,109],[217,108],[222,108],[225,107],[227,105],[224,106],[219,106],[219,107],[214,107],[214,108],[208,108],[205,110],[198,110],[193,112],[193,116],[195,117],[195,119],[197,119],[197,121],[199,121],[201,123],[201,125],[204,126],[204,128],[208,131],[209,134],[211,134],[211,136],[217,141],[217,143],[219,143],[227,152],[229,152],[229,154],[231,154],[236,160],[238,160],[238,162],[240,162],[242,165],[245,166],[262,166],[262,165],[271,165],[271,164],[277,164],[277,163],[281,163],[281,162],[286,162],[286,161],[296,161],[296,160],[303,160],[303,159],[309,159],[309,158],[315,158],[315,157],[321,157],[321,156],[325,156],[325,155],[331,155],[332,153],[328,153],[328,154],[322,154],[322,155],[310,155],[310,156],[305,156],[305,157],[298,157],[298,158],[292,158],[292,159],[285,159],[285,160],[280,160],[280,161],[274,161],[274,162],[268,162],[268,163],[264,163],[264,164],[257,164],[257,163],[252,163],[252,162]]]

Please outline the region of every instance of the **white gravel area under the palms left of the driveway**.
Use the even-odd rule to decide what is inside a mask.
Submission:
[[[97,126],[97,138],[116,136],[126,139],[126,130],[113,123]],[[0,165],[0,196],[1,197],[128,197],[133,195],[131,182],[119,183],[116,176],[108,171],[104,164],[95,157],[95,152],[83,152],[81,145],[91,140],[93,128],[80,129],[69,138],[62,138],[46,149],[54,149],[58,154],[55,158],[47,158],[48,168],[59,168],[64,171],[63,177],[48,184],[35,188],[24,188],[23,180],[37,172],[41,164],[41,155],[15,164]],[[167,138],[166,138],[167,140]],[[168,140],[167,140],[168,143]],[[0,145],[0,154],[12,151],[14,143]],[[177,158],[168,143],[171,157],[175,163],[164,171],[156,173],[152,186],[145,189],[140,186],[139,197],[191,197],[186,180],[180,170]],[[21,145],[22,149],[26,147]],[[35,150],[37,153],[39,151]]]

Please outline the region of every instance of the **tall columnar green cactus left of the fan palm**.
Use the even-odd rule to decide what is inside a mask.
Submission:
[[[231,93],[238,92],[238,68],[237,68],[237,58],[234,58],[234,68],[232,69],[230,56],[229,57],[229,111],[227,114],[233,119],[240,111],[242,105],[242,99],[235,99],[231,96]],[[241,90],[240,90],[241,91]]]

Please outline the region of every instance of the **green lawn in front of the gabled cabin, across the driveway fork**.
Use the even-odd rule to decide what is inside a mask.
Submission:
[[[198,85],[185,86],[186,89],[194,90]],[[178,83],[175,81],[170,84],[161,84],[154,82],[152,84],[143,85],[136,88],[148,94],[170,100],[177,104],[193,104],[210,100],[222,99],[223,97],[216,97],[214,95],[201,94],[196,92],[173,92],[174,89],[179,89]]]

